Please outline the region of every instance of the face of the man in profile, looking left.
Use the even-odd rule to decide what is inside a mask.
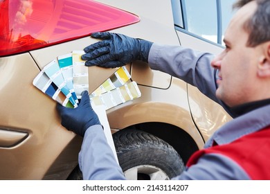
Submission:
[[[243,28],[256,8],[257,4],[252,1],[238,10],[224,36],[226,49],[211,62],[212,67],[219,69],[217,98],[230,107],[254,100],[255,87],[259,88],[256,68],[260,49],[246,46],[249,34]]]

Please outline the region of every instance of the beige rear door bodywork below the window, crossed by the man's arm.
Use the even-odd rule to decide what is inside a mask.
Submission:
[[[177,31],[177,35],[179,36],[181,46],[188,46],[197,51],[214,53],[215,55],[223,50],[222,46],[210,44],[180,31]],[[223,107],[210,100],[204,94],[201,94],[199,89],[192,85],[188,85],[188,98],[192,118],[205,141],[208,140],[215,130],[232,119]]]

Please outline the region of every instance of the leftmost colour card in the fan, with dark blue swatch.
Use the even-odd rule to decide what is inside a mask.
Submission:
[[[69,98],[67,98],[61,90],[55,85],[55,83],[48,78],[44,71],[40,71],[37,77],[33,80],[33,85],[41,90],[44,94],[53,98],[64,107],[73,107]]]

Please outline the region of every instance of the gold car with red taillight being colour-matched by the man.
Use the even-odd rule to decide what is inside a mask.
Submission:
[[[78,168],[82,137],[62,127],[55,100],[33,85],[50,62],[99,41],[90,36],[97,31],[217,54],[224,48],[222,29],[233,15],[228,9],[232,3],[1,1],[0,179],[82,179]],[[226,20],[219,25],[221,18]],[[211,25],[216,30],[208,32]],[[171,179],[232,118],[197,88],[152,70],[145,62],[125,68],[141,97],[107,109],[119,164],[127,179]],[[117,69],[87,71],[90,94]]]

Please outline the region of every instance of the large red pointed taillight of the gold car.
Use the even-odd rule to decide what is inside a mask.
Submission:
[[[91,0],[2,0],[0,10],[0,56],[139,21],[136,15]]]

